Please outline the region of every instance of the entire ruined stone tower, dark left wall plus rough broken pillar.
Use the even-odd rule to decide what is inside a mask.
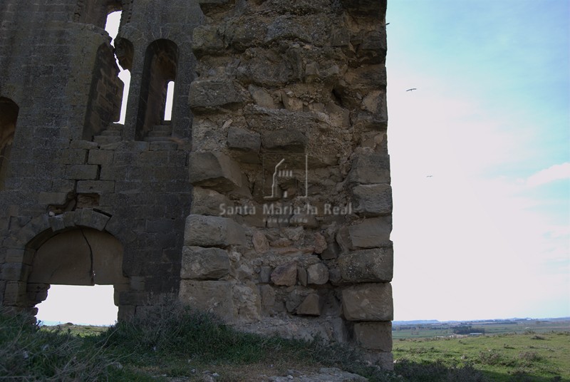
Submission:
[[[390,368],[385,0],[31,3],[0,4],[0,304],[112,284],[119,319],[180,299]]]

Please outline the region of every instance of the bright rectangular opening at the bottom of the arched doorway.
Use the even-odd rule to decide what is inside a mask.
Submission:
[[[36,305],[36,317],[43,325],[112,325],[118,313],[113,294],[113,285],[51,285],[46,301]]]

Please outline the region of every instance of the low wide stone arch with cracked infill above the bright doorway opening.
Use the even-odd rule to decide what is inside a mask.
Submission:
[[[35,315],[50,284],[113,285],[119,305],[120,292],[130,290],[123,245],[133,242],[135,234],[118,227],[113,218],[93,210],[31,220],[13,238],[12,252],[14,257],[20,252],[21,263],[6,263],[16,271],[6,282],[4,306]]]

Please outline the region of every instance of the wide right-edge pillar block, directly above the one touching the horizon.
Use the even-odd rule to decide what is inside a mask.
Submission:
[[[364,249],[339,257],[338,267],[346,282],[390,282],[393,257],[392,247]]]

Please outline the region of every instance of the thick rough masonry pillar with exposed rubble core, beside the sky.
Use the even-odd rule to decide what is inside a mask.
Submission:
[[[182,301],[390,367],[385,2],[201,6]]]

